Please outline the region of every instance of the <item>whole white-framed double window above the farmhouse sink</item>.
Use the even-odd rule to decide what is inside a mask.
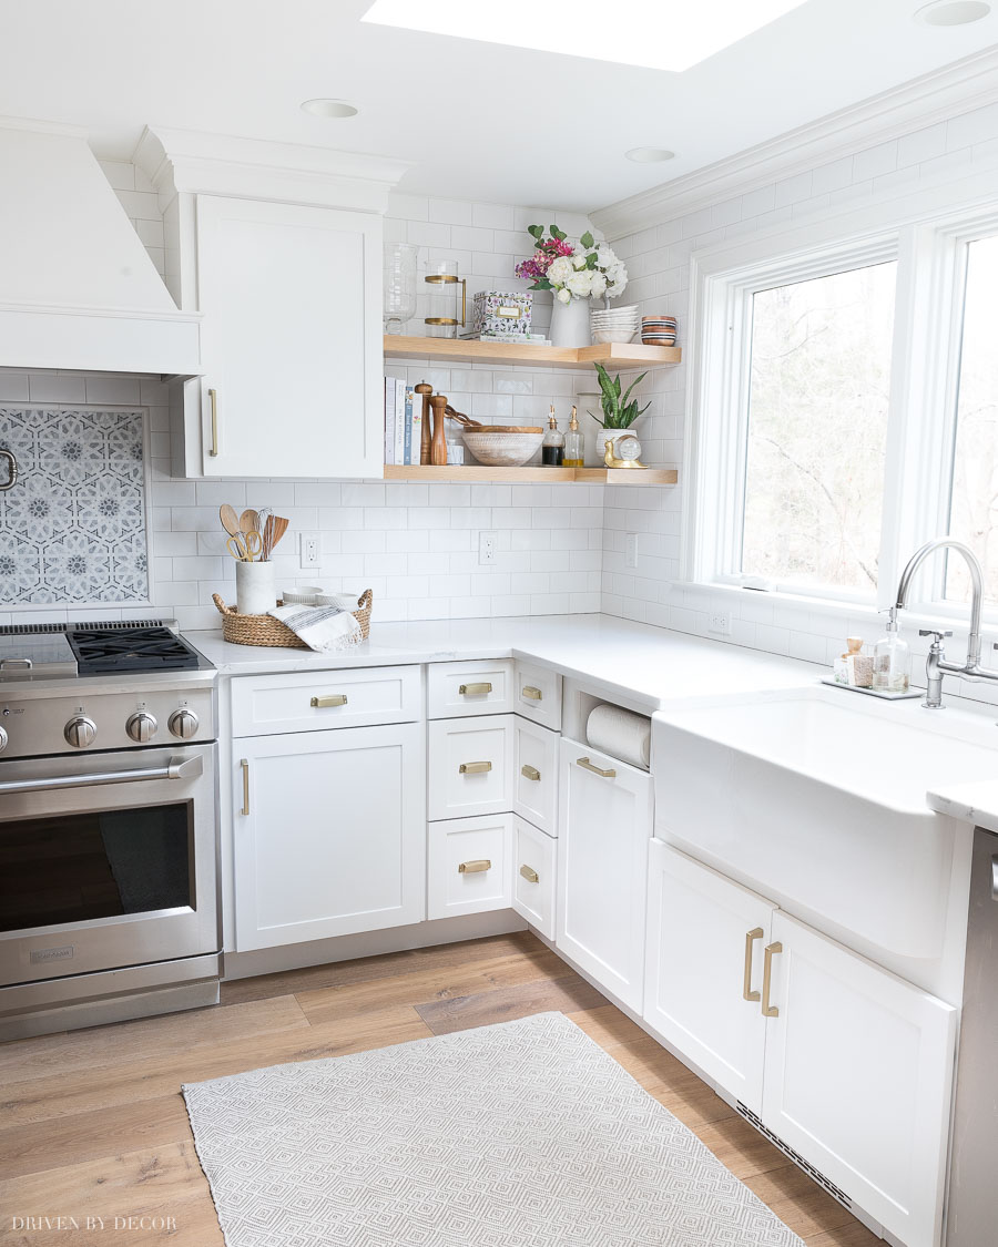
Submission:
[[[998,617],[998,197],[973,186],[695,254],[685,581],[883,610],[949,535]],[[953,626],[969,596],[941,554],[908,604]]]

